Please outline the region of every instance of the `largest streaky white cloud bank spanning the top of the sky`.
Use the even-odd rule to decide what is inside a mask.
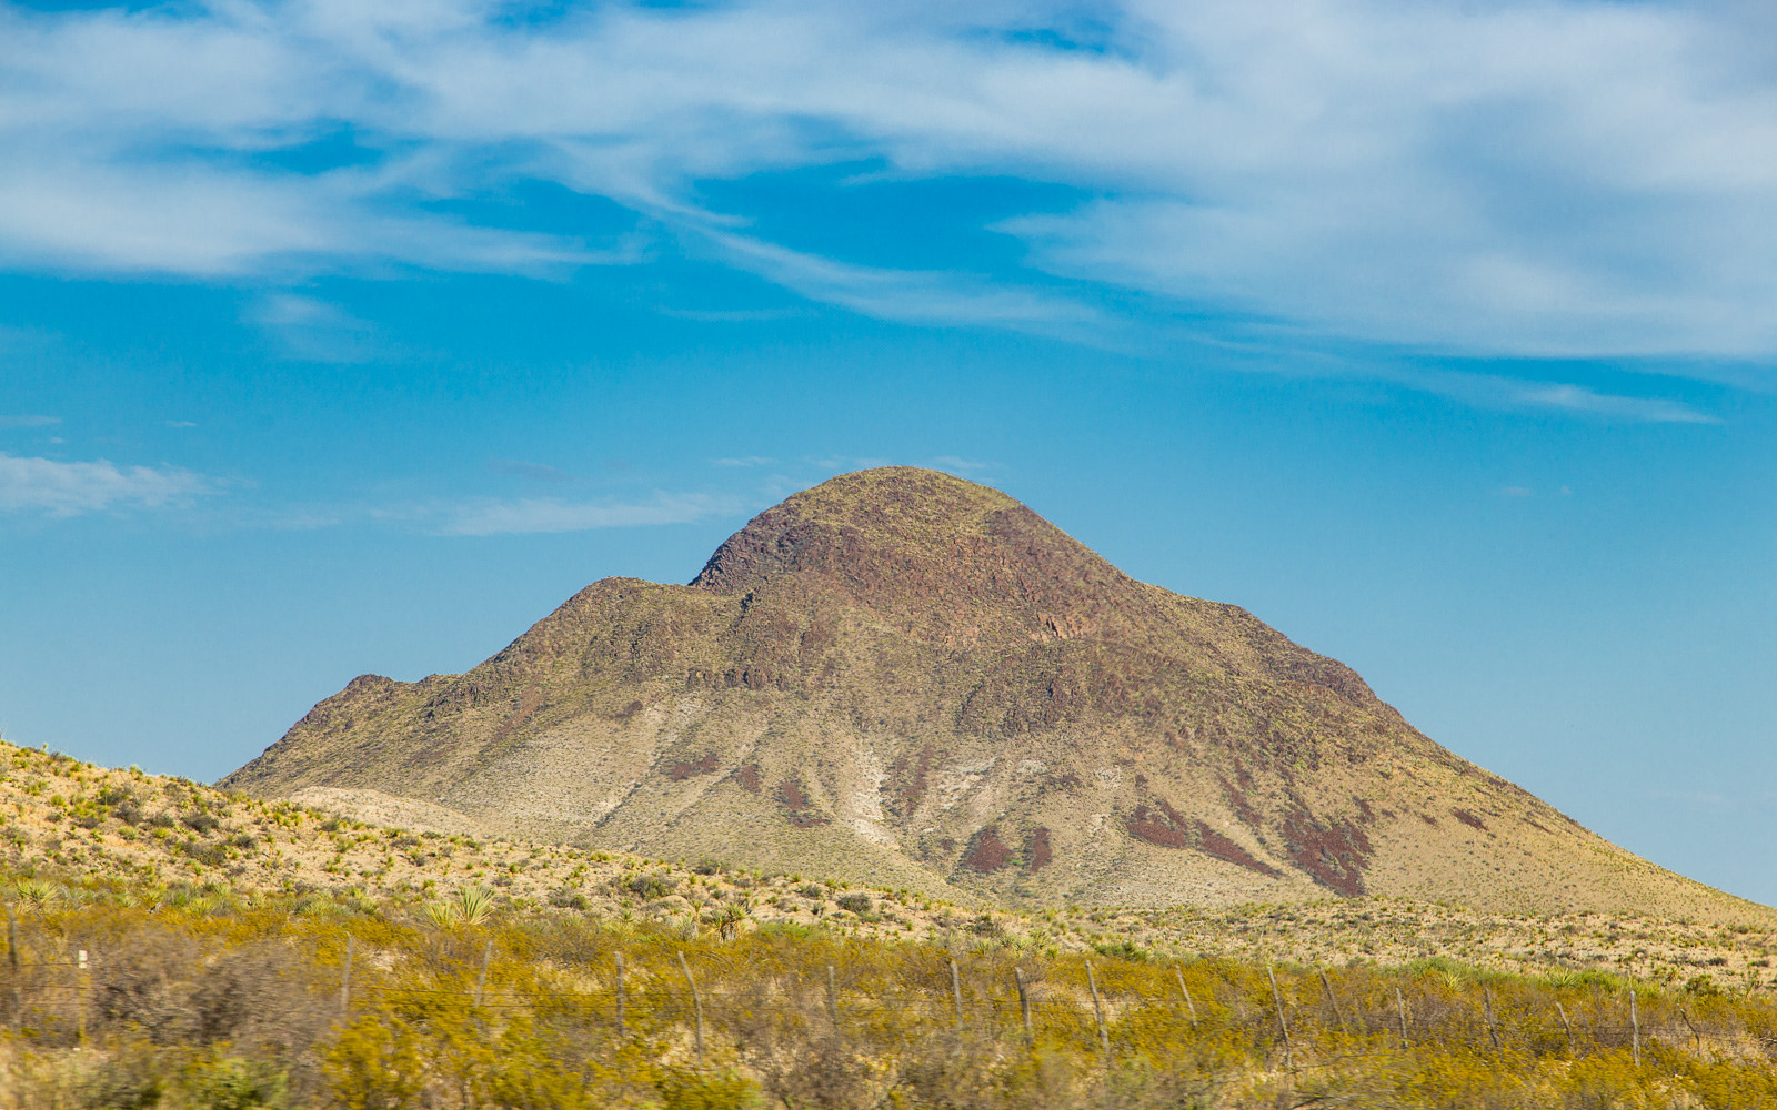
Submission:
[[[640,258],[437,204],[553,181],[858,313],[1105,327],[1073,295],[791,250],[698,199],[707,179],[878,160],[1084,190],[1000,229],[1038,270],[1185,314],[1461,352],[1777,352],[1768,7],[1127,0],[1084,12],[1091,50],[1015,34],[1091,23],[1040,0],[551,12],[0,7],[0,263],[551,275]],[[261,158],[339,128],[375,156]]]

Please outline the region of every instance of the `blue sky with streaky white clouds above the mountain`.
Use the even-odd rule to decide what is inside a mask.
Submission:
[[[1770,9],[961,7],[0,4],[7,739],[215,778],[920,464],[1777,900]]]

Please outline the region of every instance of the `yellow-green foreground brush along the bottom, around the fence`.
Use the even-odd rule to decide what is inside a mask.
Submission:
[[[1777,1103],[1777,1005],[1706,986],[27,884],[20,1108]]]

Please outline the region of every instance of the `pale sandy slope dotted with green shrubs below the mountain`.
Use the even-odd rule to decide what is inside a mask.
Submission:
[[[496,909],[556,909],[695,925],[727,938],[796,925],[899,941],[1006,938],[1054,954],[1139,950],[1303,964],[1452,955],[1493,970],[1603,970],[1663,986],[1699,977],[1733,991],[1777,984],[1777,932],[1768,915],[1740,924],[1514,915],[1406,899],[1223,909],[1072,906],[1025,915],[904,888],[810,883],[714,858],[688,867],[554,844],[414,833],[7,744],[0,744],[0,870],[20,876],[16,897],[25,908],[62,897],[52,877],[78,877],[160,899],[226,890],[398,900],[423,906],[439,925],[462,924],[464,915],[474,924]]]

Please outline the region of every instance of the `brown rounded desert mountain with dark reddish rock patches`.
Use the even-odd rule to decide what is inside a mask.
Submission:
[[[354,678],[222,781],[983,899],[1740,915],[1351,668],[988,487],[833,478],[688,586],[586,586],[466,675]]]

